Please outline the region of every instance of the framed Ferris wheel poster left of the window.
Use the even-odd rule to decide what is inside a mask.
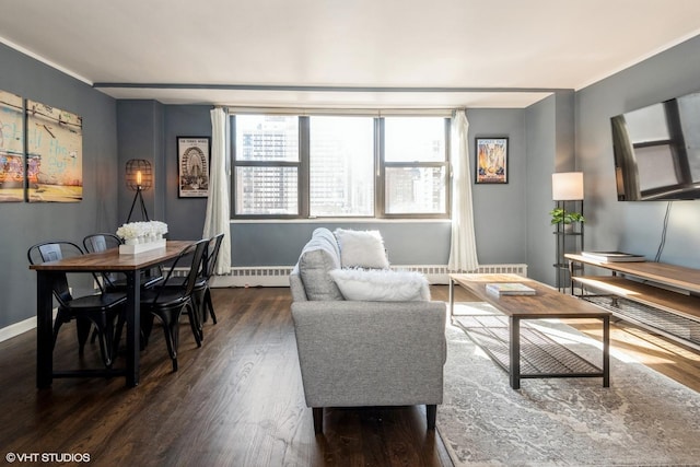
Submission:
[[[177,137],[179,198],[207,198],[209,195],[209,137]]]

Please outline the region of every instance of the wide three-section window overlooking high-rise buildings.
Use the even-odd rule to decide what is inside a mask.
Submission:
[[[234,217],[439,217],[448,119],[235,115]]]

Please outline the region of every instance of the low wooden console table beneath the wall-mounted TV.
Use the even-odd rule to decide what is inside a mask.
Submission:
[[[571,293],[616,317],[700,350],[700,270],[655,261],[604,262],[567,254]],[[574,276],[581,266],[609,276]]]

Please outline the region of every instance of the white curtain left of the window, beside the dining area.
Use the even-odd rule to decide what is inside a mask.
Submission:
[[[224,233],[219,250],[217,275],[231,271],[231,211],[229,202],[229,148],[228,115],[223,108],[211,110],[211,165],[209,167],[209,199],[205,218],[203,238]]]

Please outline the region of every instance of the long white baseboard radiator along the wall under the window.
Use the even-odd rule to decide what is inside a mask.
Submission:
[[[232,267],[228,275],[213,278],[212,287],[289,287],[288,277],[292,269],[292,266]],[[450,270],[445,265],[395,265],[392,269],[422,272],[431,284],[448,283]],[[481,265],[469,272],[513,273],[527,277],[527,265]],[[182,270],[177,273],[185,275],[187,271]]]

